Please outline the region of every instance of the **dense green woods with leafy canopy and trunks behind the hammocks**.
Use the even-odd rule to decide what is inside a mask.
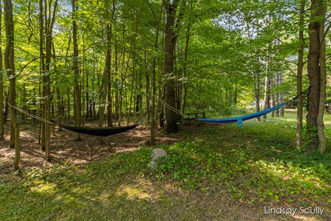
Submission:
[[[15,168],[18,122],[27,116],[13,106],[46,121],[74,121],[77,126],[90,120],[98,120],[99,126],[123,126],[134,122],[137,113],[147,113],[154,144],[163,114],[168,133],[177,132],[177,123],[183,122],[163,102],[181,113],[226,116],[245,111],[251,102],[256,111],[275,106],[308,86],[305,144],[316,149],[320,140],[325,151],[331,50],[327,1],[1,3],[1,46],[6,50],[2,55],[0,49],[0,122],[11,119]],[[291,105],[298,107],[301,146],[303,98]],[[283,114],[281,109],[272,116]],[[40,125],[41,147],[50,160],[50,124]]]

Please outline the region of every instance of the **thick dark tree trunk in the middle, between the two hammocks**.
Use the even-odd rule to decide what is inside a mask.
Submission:
[[[170,3],[163,0],[167,12],[167,23],[165,24],[165,53],[164,53],[164,75],[165,75],[165,103],[176,108],[176,97],[174,91],[174,50],[176,37],[174,33],[174,20],[177,11],[177,0]],[[165,107],[165,132],[177,133],[177,114],[168,106]]]

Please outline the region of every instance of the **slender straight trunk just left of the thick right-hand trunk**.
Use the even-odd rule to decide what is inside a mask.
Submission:
[[[300,18],[299,18],[299,42],[300,48],[298,51],[297,65],[297,95],[302,93],[302,72],[303,72],[303,50],[305,49],[305,39],[303,37],[303,19],[305,13],[305,0],[300,1]],[[303,97],[297,99],[297,146],[302,145],[302,129],[303,129]]]

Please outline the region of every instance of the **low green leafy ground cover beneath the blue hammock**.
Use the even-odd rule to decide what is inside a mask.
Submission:
[[[163,146],[170,157],[156,177],[172,177],[183,188],[202,191],[222,186],[234,198],[252,203],[329,206],[331,153],[295,148],[289,142],[294,130],[282,126],[206,128],[190,142]]]

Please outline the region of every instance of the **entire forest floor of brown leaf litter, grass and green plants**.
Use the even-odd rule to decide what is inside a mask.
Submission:
[[[295,113],[267,122],[185,126],[158,133],[169,153],[151,171],[143,126],[99,144],[55,132],[43,160],[37,126],[22,126],[21,173],[0,143],[0,220],[331,220],[331,152],[295,145]],[[331,117],[326,116],[327,133]],[[328,133],[328,139],[330,140]],[[265,214],[297,209],[295,215]],[[303,215],[315,206],[323,215]]]

